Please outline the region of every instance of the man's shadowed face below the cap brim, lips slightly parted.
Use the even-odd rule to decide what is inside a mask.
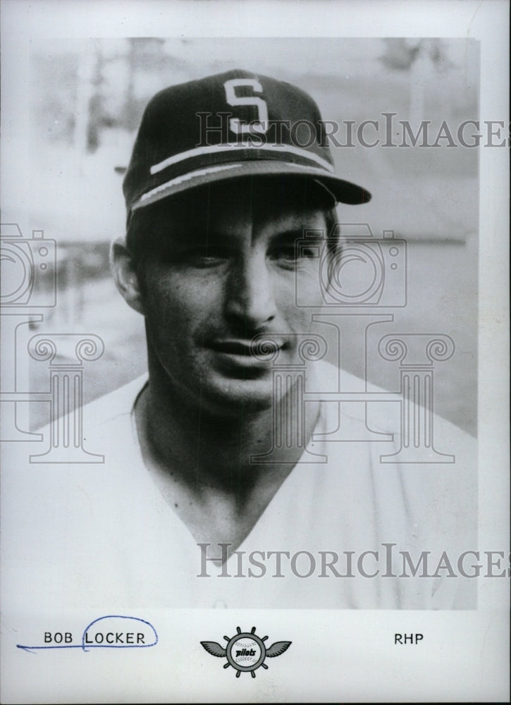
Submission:
[[[297,257],[295,242],[304,231],[326,237],[324,211],[295,188],[238,181],[160,207],[152,227],[159,245],[141,274],[152,379],[216,413],[271,406],[272,363],[251,341],[276,341],[279,365],[300,361],[311,313],[295,288],[310,306],[323,299],[318,248]]]

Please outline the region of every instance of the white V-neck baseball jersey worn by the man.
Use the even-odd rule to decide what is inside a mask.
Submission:
[[[321,363],[321,375],[333,371]],[[369,425],[393,436],[343,442],[324,434],[342,424],[346,438],[364,438],[365,411],[352,414],[362,405],[321,403],[307,452],[222,567],[209,560],[222,547],[197,544],[144,466],[133,415],[144,384],[85,407],[84,446],[103,463],[6,467],[12,606],[476,606],[476,581],[457,570],[476,536],[475,442],[460,429],[434,419],[438,450],[454,463],[382,463],[400,448],[385,405],[369,405]]]

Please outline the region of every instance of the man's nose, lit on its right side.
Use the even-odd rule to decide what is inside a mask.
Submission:
[[[271,272],[264,253],[242,257],[230,271],[226,292],[226,314],[242,322],[244,331],[254,331],[276,317]]]

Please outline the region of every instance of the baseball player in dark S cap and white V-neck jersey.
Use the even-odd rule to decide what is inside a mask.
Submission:
[[[39,497],[25,513],[30,569],[63,575],[45,604],[474,606],[472,583],[438,568],[441,551],[473,548],[460,543],[473,516],[468,437],[437,424],[448,470],[382,465],[365,415],[304,403],[304,389],[338,386],[324,360],[304,368],[302,345],[317,341],[335,208],[370,198],[336,175],[312,98],[247,71],[162,90],[123,189],[112,267],[144,317],[148,375],[85,410],[104,465],[26,471]],[[391,456],[399,422],[374,406]],[[339,427],[347,442],[328,442]],[[426,571],[423,551],[437,552]]]

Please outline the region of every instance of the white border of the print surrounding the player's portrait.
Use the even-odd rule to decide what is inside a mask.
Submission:
[[[481,42],[479,119],[509,121],[509,4],[486,0],[4,0],[1,6],[2,202],[30,199],[30,40],[42,37],[472,37]],[[480,155],[479,548],[509,541],[509,152]],[[6,178],[7,177],[7,178]],[[23,223],[20,223],[23,228]],[[2,502],[8,501],[3,497]],[[507,556],[507,553],[506,553]],[[8,565],[4,565],[8,570]],[[3,702],[502,701],[509,697],[509,580],[481,578],[478,609],[148,611],[159,649],[144,654],[23,651],[2,658]],[[121,609],[122,606],[119,606]],[[44,618],[41,615],[41,624]],[[71,622],[80,615],[69,615]],[[226,625],[230,625],[227,627]],[[237,625],[293,641],[261,677],[233,678],[199,642]],[[4,635],[11,625],[4,625]],[[230,628],[230,632],[226,631]],[[397,651],[395,632],[424,642]],[[4,637],[3,637],[4,638]],[[330,656],[319,659],[328,644]],[[161,646],[161,648],[160,648]],[[97,651],[103,651],[99,649]],[[135,650],[136,652],[136,650]],[[152,653],[151,653],[152,652]],[[289,652],[291,656],[293,652]],[[75,656],[87,656],[87,661]],[[246,674],[245,674],[246,675]],[[228,676],[228,677],[227,677]]]

